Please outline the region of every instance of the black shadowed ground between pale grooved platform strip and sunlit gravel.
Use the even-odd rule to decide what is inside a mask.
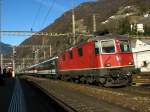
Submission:
[[[68,108],[64,108],[65,106],[60,105],[58,101],[56,102],[55,98],[49,97],[45,92],[36,87],[34,83],[23,79],[21,79],[20,82],[23,87],[26,102],[25,112],[68,112]]]

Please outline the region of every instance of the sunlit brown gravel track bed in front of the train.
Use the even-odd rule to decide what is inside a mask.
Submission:
[[[106,108],[100,110],[100,105],[112,109],[116,108],[116,112],[122,111],[138,111],[149,112],[150,111],[150,97],[148,90],[146,92],[139,92],[141,88],[129,87],[129,88],[103,88],[96,86],[87,86],[83,84],[75,84],[70,82],[48,80],[44,78],[26,77],[28,81],[32,81],[44,90],[53,94],[56,98],[63,99],[63,102],[67,102],[71,107],[76,108],[76,111],[81,112],[103,112]],[[132,90],[135,89],[136,91]],[[59,93],[59,94],[58,94]],[[78,97],[75,97],[76,94]],[[88,96],[88,98],[84,98]],[[90,98],[90,99],[89,99]],[[88,99],[88,100],[86,100]],[[96,100],[93,100],[96,99]],[[93,100],[93,102],[92,102]],[[83,101],[85,101],[83,103]],[[94,102],[97,103],[95,104]],[[79,102],[81,102],[79,104]],[[89,104],[90,102],[90,104]],[[99,104],[98,102],[102,102]],[[97,105],[95,107],[95,105]],[[98,105],[99,104],[99,105]],[[101,107],[102,108],[102,107]],[[120,110],[121,109],[121,110]],[[113,109],[112,109],[113,110]],[[105,110],[106,111],[106,110]],[[104,112],[105,112],[104,111]],[[111,110],[107,110],[111,112]],[[114,112],[114,111],[113,111]]]

